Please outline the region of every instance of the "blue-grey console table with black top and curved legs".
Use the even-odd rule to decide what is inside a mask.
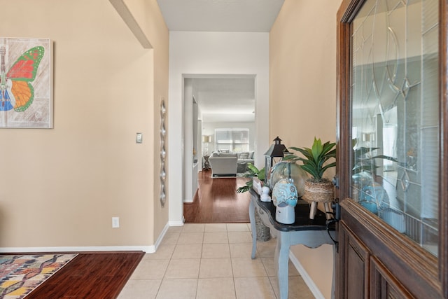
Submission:
[[[308,202],[298,200],[295,207],[295,223],[279,223],[275,220],[276,207],[274,204],[272,202],[262,202],[255,190],[251,189],[250,193],[249,218],[251,219],[252,228],[252,258],[255,258],[255,251],[257,250],[255,207],[258,207],[258,214],[260,214],[262,223],[270,228],[271,234],[277,239],[274,263],[279,280],[280,299],[286,299],[288,298],[288,261],[289,247],[291,245],[303,244],[309,248],[317,248],[322,244],[333,244],[333,252],[335,252],[334,242],[328,235],[327,218],[322,211],[317,211],[314,219],[310,219]],[[335,230],[330,230],[330,234],[335,239]]]

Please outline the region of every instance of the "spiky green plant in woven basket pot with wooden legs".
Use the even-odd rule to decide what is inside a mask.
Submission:
[[[301,153],[304,157],[295,154],[286,155],[283,160],[300,160],[300,165],[305,172],[311,174],[311,178],[305,181],[305,190],[302,198],[312,202],[310,218],[314,218],[316,213],[316,202],[332,202],[334,200],[334,186],[331,181],[325,179],[323,174],[330,167],[335,167],[336,162],[329,162],[336,158],[335,143],[330,141],[322,144],[321,139],[314,137],[314,143],[311,148],[290,147],[291,150]],[[325,204],[325,210],[329,209]]]

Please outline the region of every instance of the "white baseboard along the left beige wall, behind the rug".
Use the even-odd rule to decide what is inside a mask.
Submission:
[[[10,252],[79,252],[79,251],[144,251],[155,252],[155,246],[55,246],[55,247],[0,247],[0,253]]]

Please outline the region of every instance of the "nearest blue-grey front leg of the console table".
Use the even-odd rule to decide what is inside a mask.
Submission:
[[[279,280],[280,299],[288,298],[289,237],[288,232],[279,232],[275,248],[274,263]]]

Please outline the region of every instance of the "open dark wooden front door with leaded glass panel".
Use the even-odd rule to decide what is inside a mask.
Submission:
[[[448,298],[447,0],[337,14],[337,298]]]

